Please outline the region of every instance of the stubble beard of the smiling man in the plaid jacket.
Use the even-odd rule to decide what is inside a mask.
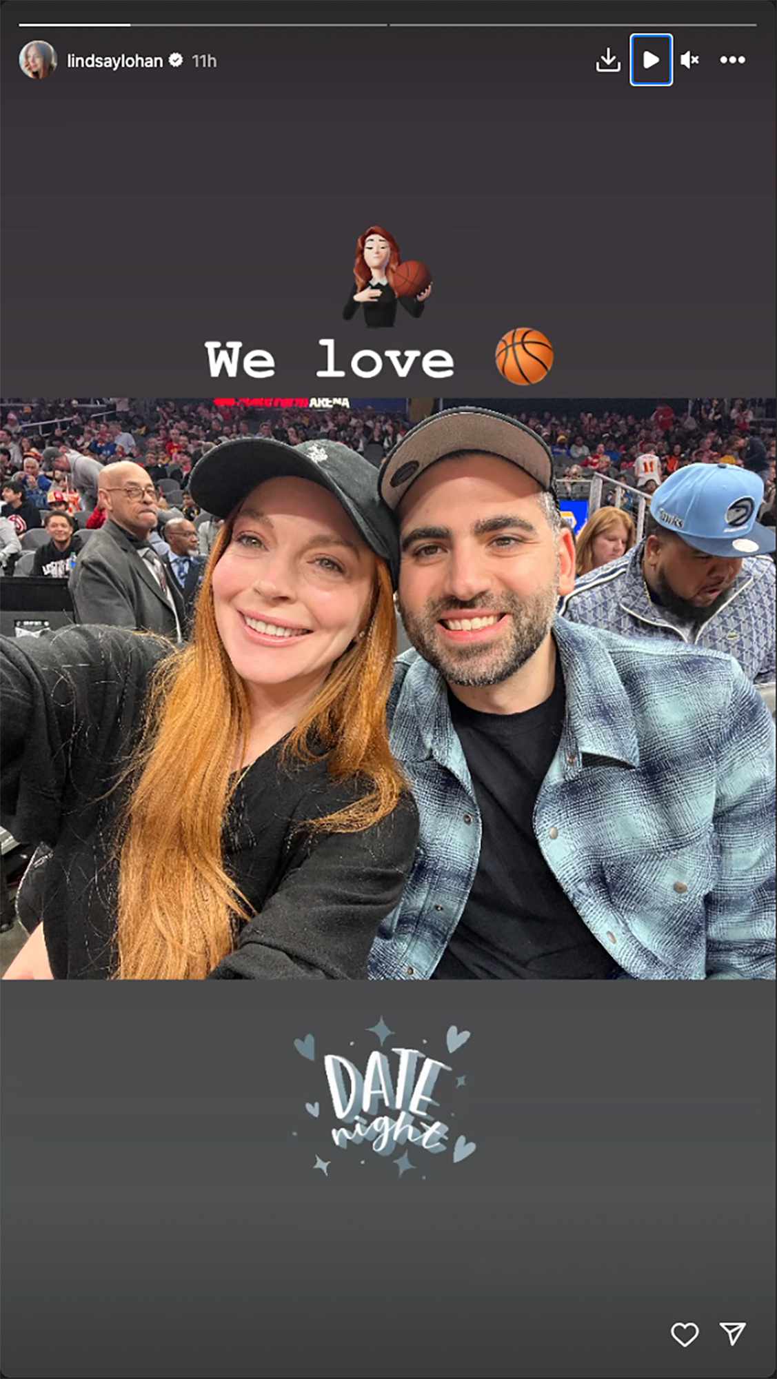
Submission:
[[[468,643],[460,647],[441,645],[437,622],[439,618],[445,618],[446,610],[450,608],[449,600],[427,607],[419,616],[409,614],[401,598],[397,603],[405,632],[424,661],[428,661],[430,666],[434,666],[448,684],[462,685],[467,690],[484,690],[488,685],[499,685],[504,680],[510,680],[510,676],[525,666],[541,647],[555,616],[559,575],[561,568],[557,561],[552,585],[532,594],[530,598],[503,594],[499,604],[484,603],[482,597],[468,600],[468,605],[473,608],[510,615],[507,632],[503,632],[492,647],[482,643]],[[467,603],[456,604],[459,618],[466,611]]]

